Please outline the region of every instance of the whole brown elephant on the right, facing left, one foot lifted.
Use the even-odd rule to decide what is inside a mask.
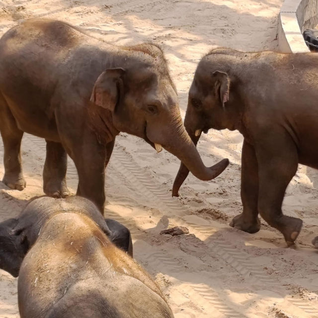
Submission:
[[[239,130],[243,212],[231,226],[255,233],[258,213],[288,245],[302,220],[282,213],[298,163],[318,168],[318,55],[212,50],[200,61],[190,87],[184,125],[196,145],[210,128]],[[187,177],[181,164],[172,195]]]

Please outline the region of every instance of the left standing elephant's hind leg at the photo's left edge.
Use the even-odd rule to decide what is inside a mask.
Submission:
[[[21,140],[23,131],[20,130],[16,121],[0,94],[0,133],[4,147],[4,176],[2,182],[11,189],[23,190],[25,180],[21,165]]]

